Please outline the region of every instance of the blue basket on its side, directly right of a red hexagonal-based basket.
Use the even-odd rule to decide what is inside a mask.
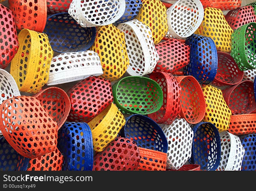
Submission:
[[[195,77],[200,84],[211,83],[218,68],[214,41],[209,37],[193,34],[186,38],[185,43],[190,46],[190,62],[184,67],[184,74]]]

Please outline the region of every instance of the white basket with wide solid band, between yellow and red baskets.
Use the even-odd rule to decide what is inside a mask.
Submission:
[[[150,28],[137,19],[119,24],[117,28],[125,34],[126,50],[130,61],[127,73],[131,76],[152,73],[159,55]]]

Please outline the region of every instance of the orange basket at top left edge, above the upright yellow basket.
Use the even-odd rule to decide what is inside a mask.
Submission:
[[[47,0],[8,0],[17,29],[27,28],[42,33],[47,17]]]

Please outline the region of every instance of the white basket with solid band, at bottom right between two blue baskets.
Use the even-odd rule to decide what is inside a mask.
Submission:
[[[241,170],[245,150],[238,136],[227,131],[220,132],[221,161],[217,170]]]

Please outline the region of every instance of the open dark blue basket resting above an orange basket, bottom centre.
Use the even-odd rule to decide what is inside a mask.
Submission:
[[[163,130],[151,118],[134,114],[125,118],[120,135],[134,140],[138,147],[167,153],[168,142]]]

